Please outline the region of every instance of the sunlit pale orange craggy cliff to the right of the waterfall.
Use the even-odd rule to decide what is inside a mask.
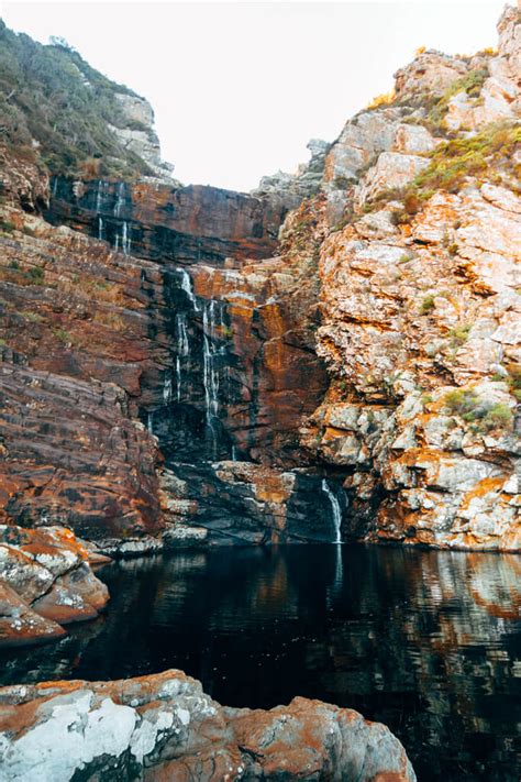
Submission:
[[[421,54],[326,159],[324,219],[344,213],[320,251],[333,382],[302,434],[345,471],[345,535],[521,546],[519,22],[507,8],[498,54],[478,57],[488,78],[476,59]],[[475,135],[446,141],[458,96],[477,106]]]

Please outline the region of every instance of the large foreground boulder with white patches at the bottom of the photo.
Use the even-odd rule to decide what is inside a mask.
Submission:
[[[181,671],[0,690],[2,779],[392,780],[415,774],[384,725],[297,697],[220,706]]]

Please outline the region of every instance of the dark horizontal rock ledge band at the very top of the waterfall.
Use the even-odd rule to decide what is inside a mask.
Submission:
[[[56,178],[45,212],[108,241],[126,254],[164,264],[222,264],[268,257],[287,212],[267,198],[193,185],[114,183]]]

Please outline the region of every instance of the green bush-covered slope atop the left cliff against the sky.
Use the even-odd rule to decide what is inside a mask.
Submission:
[[[41,158],[52,174],[132,178],[151,174],[109,125],[146,130],[125,117],[137,98],[56,41],[44,46],[0,20],[0,142]]]

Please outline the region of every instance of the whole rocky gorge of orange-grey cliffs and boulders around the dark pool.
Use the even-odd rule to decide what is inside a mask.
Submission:
[[[59,122],[37,136],[26,102],[4,109],[1,643],[97,617],[109,595],[93,570],[111,557],[345,541],[519,553],[518,9],[498,32],[474,56],[420,52],[333,143],[310,142],[296,175],[251,194],[181,186],[144,99],[41,47],[73,62],[92,141],[65,156]],[[381,726],[318,703],[264,714],[267,741],[258,715],[175,672],[46,687],[0,691],[7,779],[414,779]],[[126,739],[99,766],[87,736],[114,709]],[[76,764],[18,771],[59,714],[93,725]]]

